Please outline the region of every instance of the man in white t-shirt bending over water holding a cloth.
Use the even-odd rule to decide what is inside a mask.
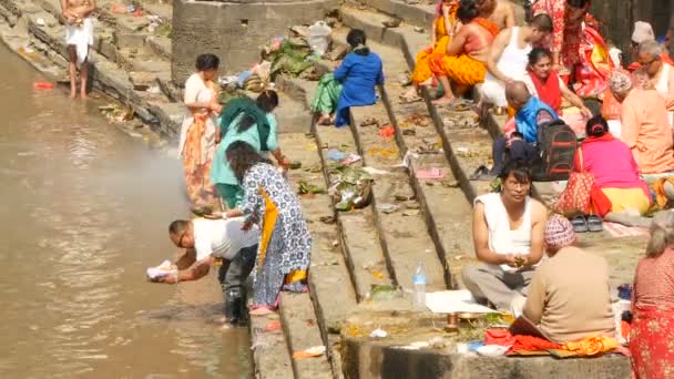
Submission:
[[[243,226],[243,217],[174,221],[168,227],[168,235],[175,246],[186,252],[175,262],[175,267],[170,266],[168,275],[154,275],[155,279],[165,284],[198,280],[222,259],[218,280],[225,296],[225,317],[233,325],[245,321],[244,284],[255,265],[261,233],[254,228],[244,231]]]

